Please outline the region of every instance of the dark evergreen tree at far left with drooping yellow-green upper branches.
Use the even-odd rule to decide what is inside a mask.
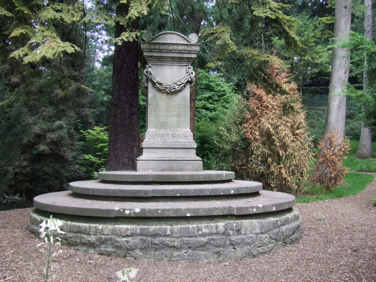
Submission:
[[[0,178],[4,181],[0,193],[30,199],[40,193],[61,190],[82,175],[77,165],[77,132],[91,123],[90,90],[84,81],[85,55],[67,52],[65,47],[54,44],[64,38],[69,46],[77,47],[75,50],[83,50],[85,34],[77,22],[65,21],[65,15],[59,19],[55,19],[56,15],[45,15],[48,18],[39,21],[46,5],[62,11],[58,3],[5,1],[4,4],[3,8],[12,11],[13,16],[0,16],[0,72],[4,90],[0,128],[7,145],[0,149],[4,156],[0,161]],[[33,38],[40,41],[33,43]],[[59,40],[52,42],[54,38]],[[17,50],[24,50],[23,60],[17,59]]]

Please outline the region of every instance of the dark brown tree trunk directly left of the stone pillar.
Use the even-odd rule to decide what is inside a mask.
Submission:
[[[116,6],[116,16],[125,17],[127,4]],[[138,29],[138,20],[131,29]],[[115,23],[115,37],[127,29]],[[112,98],[110,104],[108,171],[131,171],[136,169],[135,160],[140,153],[138,41],[115,44],[112,75]]]

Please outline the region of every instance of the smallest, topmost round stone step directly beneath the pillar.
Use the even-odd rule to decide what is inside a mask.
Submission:
[[[210,182],[230,181],[235,178],[233,172],[100,172],[99,180],[123,182]]]

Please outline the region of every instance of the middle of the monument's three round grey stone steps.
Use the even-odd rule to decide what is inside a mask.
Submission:
[[[75,193],[98,196],[207,196],[254,193],[262,190],[262,184],[253,181],[233,180],[217,184],[129,185],[89,180],[71,182],[69,183],[69,190]]]

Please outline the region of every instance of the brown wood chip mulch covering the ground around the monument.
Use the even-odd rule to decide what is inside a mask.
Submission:
[[[50,281],[118,281],[116,272],[138,268],[131,281],[376,281],[376,180],[356,196],[297,204],[304,234],[299,242],[254,259],[227,262],[153,262],[94,255],[62,246]],[[43,281],[45,261],[28,232],[30,209],[0,212],[0,282]]]

